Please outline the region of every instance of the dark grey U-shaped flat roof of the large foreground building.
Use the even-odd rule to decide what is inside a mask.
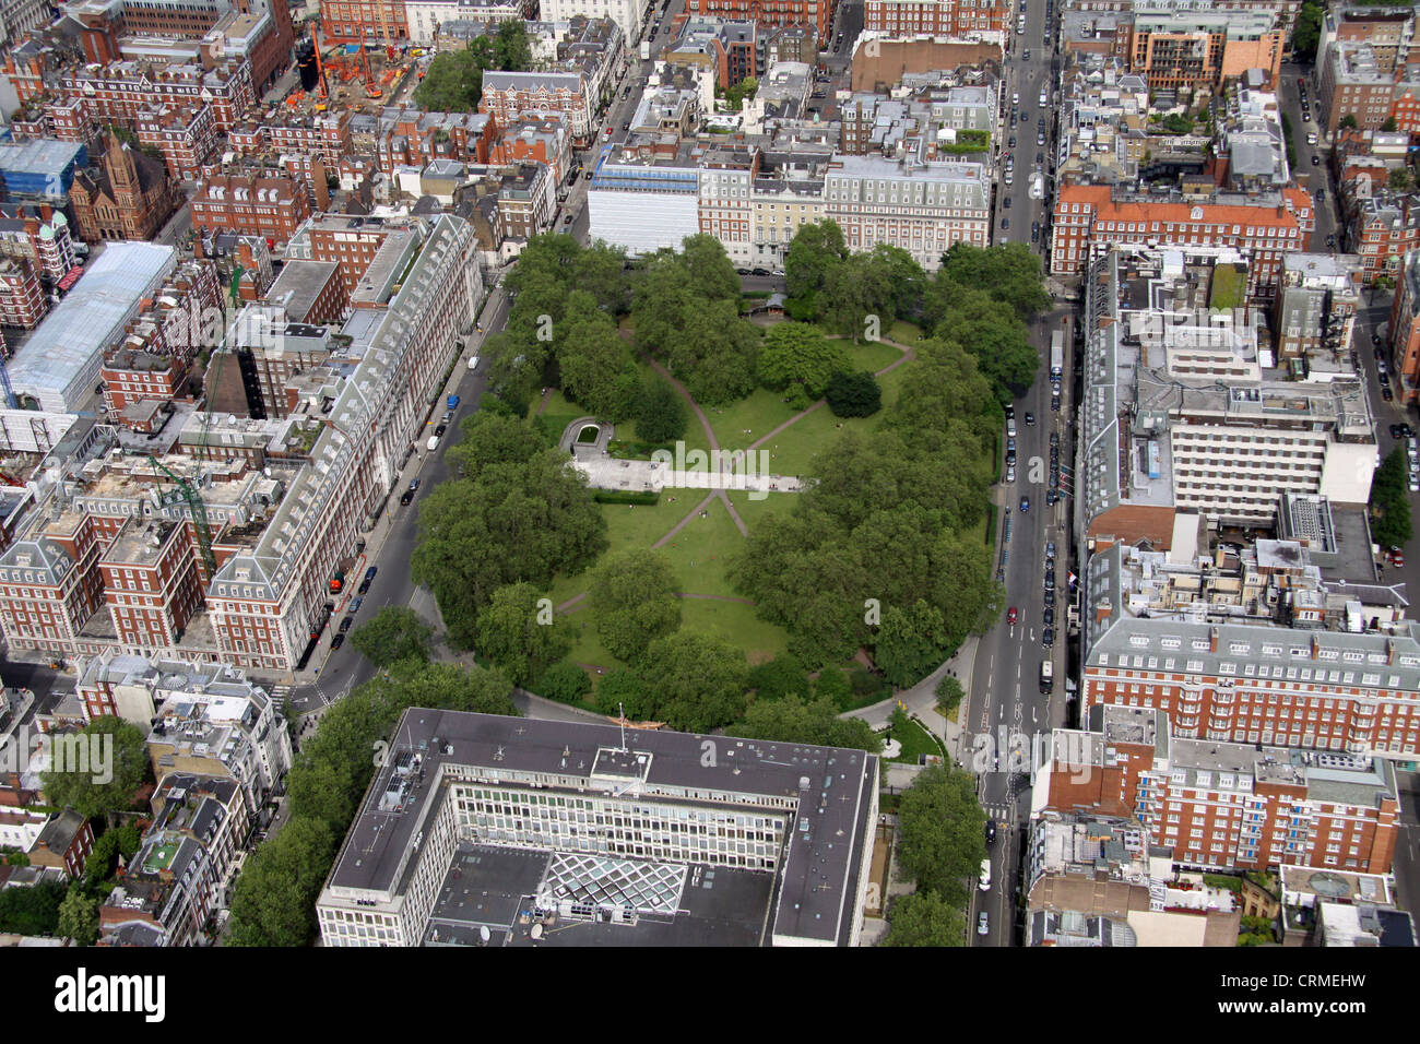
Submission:
[[[878,785],[872,754],[423,707],[408,710],[393,736],[388,764],[365,795],[328,888],[402,892],[415,865],[408,858],[410,839],[430,811],[426,800],[444,800],[439,785],[444,767],[477,767],[501,785],[528,785],[537,774],[545,790],[625,794],[628,801],[748,811],[765,805],[734,795],[775,800],[772,811],[790,817],[785,852],[772,876],[780,885],[775,935],[843,943],[851,933],[862,847],[872,827],[865,817]],[[706,757],[707,743],[714,744],[714,757]],[[392,783],[398,788],[399,754],[406,751],[422,758],[420,783],[390,811],[383,797]],[[470,777],[463,773],[463,778]]]

